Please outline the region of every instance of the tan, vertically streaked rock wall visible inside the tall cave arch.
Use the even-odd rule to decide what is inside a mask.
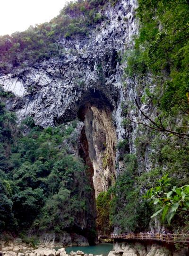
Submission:
[[[96,106],[90,103],[85,105],[80,115],[84,121],[88,141],[86,154],[88,151],[97,196],[99,192],[106,191],[114,181],[116,131],[112,125],[111,110],[105,105]]]

